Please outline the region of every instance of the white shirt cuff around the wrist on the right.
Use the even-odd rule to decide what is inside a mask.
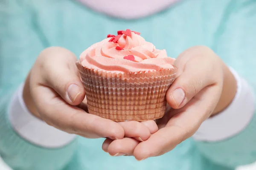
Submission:
[[[232,103],[221,113],[208,118],[192,136],[198,141],[218,142],[228,139],[244,130],[255,111],[253,88],[239,77],[233,68],[230,71],[237,81],[237,92]]]

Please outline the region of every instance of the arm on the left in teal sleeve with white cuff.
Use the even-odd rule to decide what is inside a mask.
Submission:
[[[25,2],[8,0],[0,3],[0,155],[14,169],[59,170],[73,156],[74,138],[50,146],[47,145],[49,140],[39,142],[47,134],[65,134],[32,116],[22,102],[23,87],[20,84],[36,56],[47,45],[41,40],[40,31],[33,26],[32,14]],[[15,90],[19,85],[20,88]],[[41,131],[33,133],[37,128]]]

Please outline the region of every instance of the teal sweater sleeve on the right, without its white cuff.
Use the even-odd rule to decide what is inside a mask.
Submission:
[[[253,99],[256,95],[256,3],[253,0],[230,0],[229,2],[218,21],[208,22],[208,26],[216,25],[211,32],[212,39],[209,46],[224,59],[227,65],[237,71],[243,82],[248,82],[245,90],[250,93],[244,96],[244,100],[250,98],[250,104],[254,107],[248,109],[249,103],[243,102],[243,106],[240,105],[240,108],[233,109],[233,116],[230,114],[229,121],[233,122],[239,115],[248,115],[244,113],[245,111],[254,113],[239,133],[218,141],[201,139],[195,143],[201,153],[211,161],[228,167],[237,167],[256,161],[256,112],[255,99]],[[213,12],[212,16],[214,15]],[[232,128],[228,127],[230,122],[226,122],[226,128]],[[212,124],[211,128],[214,129],[215,126],[218,127],[218,124]],[[212,131],[208,132],[212,133]],[[224,129],[224,131],[227,130]],[[211,134],[207,135],[211,136]]]

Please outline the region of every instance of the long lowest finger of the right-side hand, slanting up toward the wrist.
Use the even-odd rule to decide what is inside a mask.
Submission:
[[[138,144],[134,150],[136,159],[162,155],[191,137],[215,108],[216,99],[209,95],[219,93],[218,89],[218,87],[205,88],[183,108],[174,110],[175,115],[165,127],[151,135],[145,142]]]

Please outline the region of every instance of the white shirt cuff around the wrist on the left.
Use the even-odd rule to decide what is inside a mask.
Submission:
[[[23,87],[24,84],[20,85],[9,105],[8,115],[13,129],[23,139],[41,147],[63,147],[72,142],[76,135],[49,126],[29,112],[23,100]]]

